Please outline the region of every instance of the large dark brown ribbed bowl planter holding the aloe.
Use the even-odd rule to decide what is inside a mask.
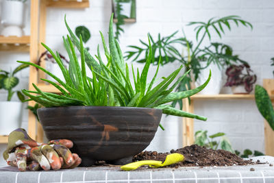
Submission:
[[[158,129],[162,110],[103,106],[40,108],[38,117],[49,140],[73,141],[83,166],[117,160],[145,149]],[[118,161],[119,162],[119,161]]]

